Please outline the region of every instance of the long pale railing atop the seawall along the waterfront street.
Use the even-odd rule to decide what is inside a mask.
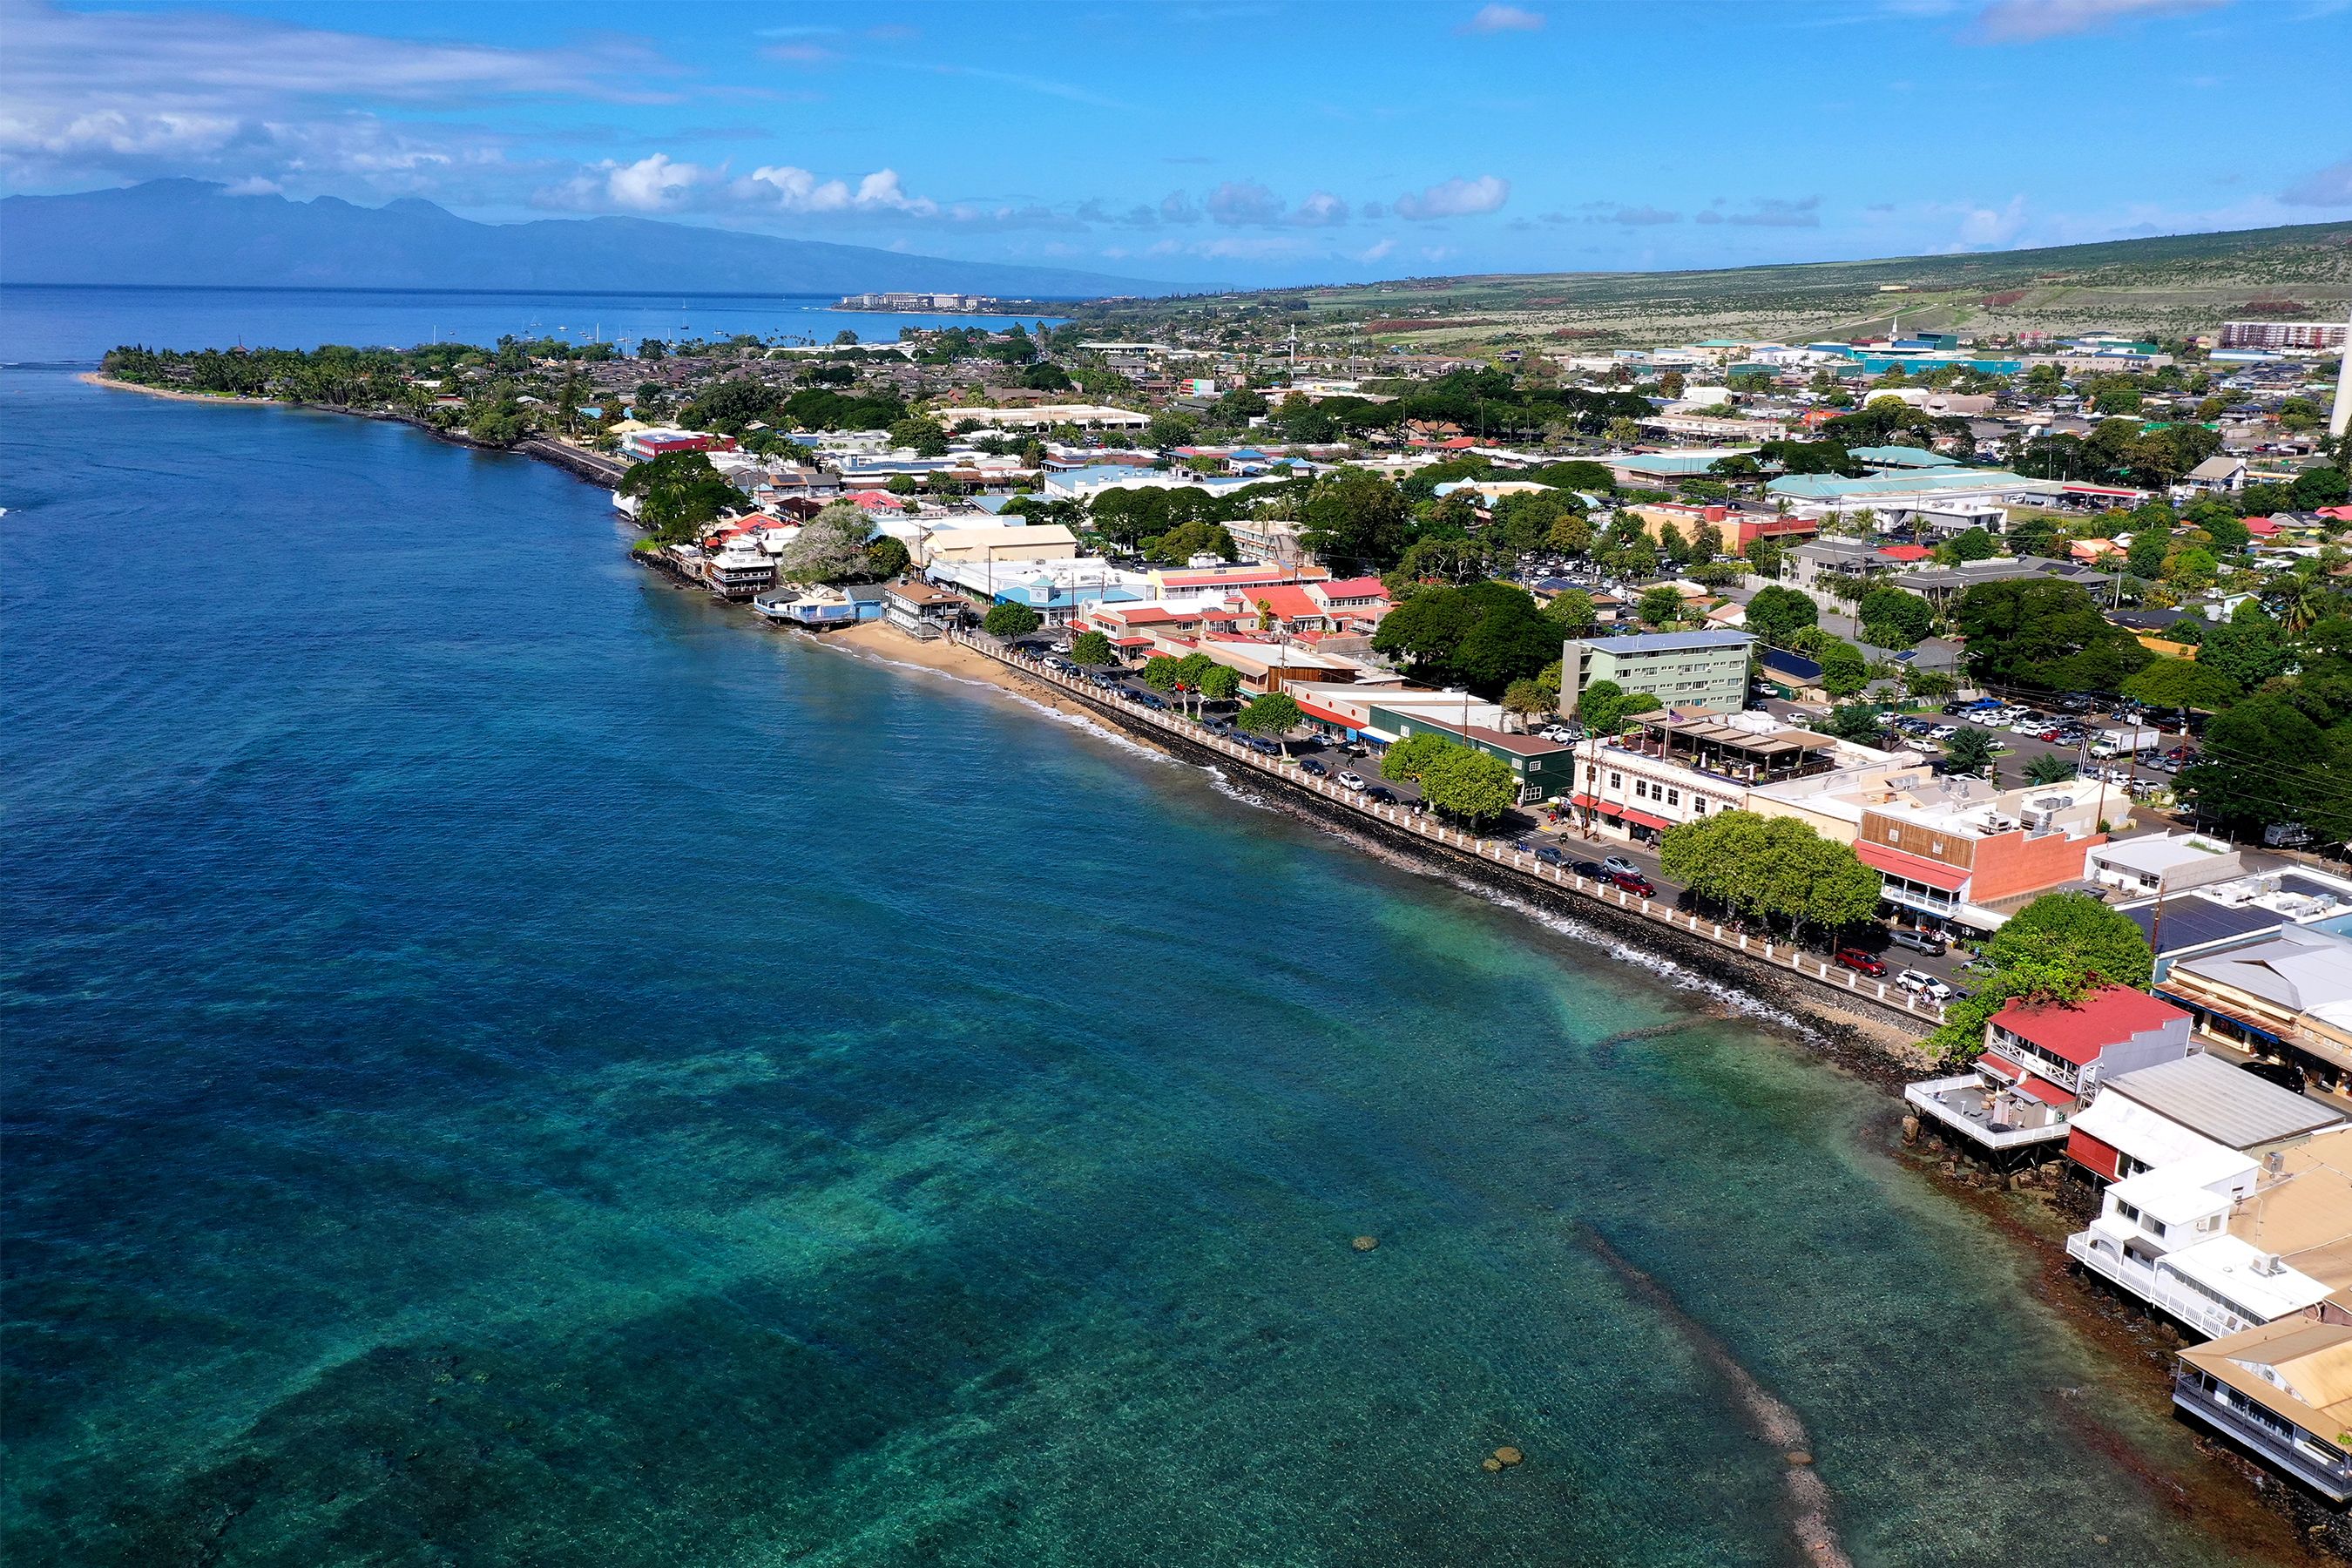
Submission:
[[[1070,675],[1063,675],[1061,670],[1049,670],[1033,658],[1007,654],[1002,646],[993,646],[993,639],[974,637],[971,632],[953,628],[948,630],[948,637],[976,654],[995,658],[1002,665],[1011,665],[1023,675],[1047,682],[1049,686],[1063,686],[1073,696],[1082,696],[1089,703],[1115,708],[1141,724],[1164,729],[1167,733],[1188,741],[1190,745],[1200,745],[1211,752],[1232,757],[1242,766],[1251,766],[1289,785],[1322,795],[1331,804],[1357,811],[1359,816],[1376,818],[1381,823],[1388,823],[1390,827],[1402,827],[1404,832],[1418,835],[1432,844],[1444,844],[1446,849],[1458,849],[1463,853],[1477,856],[1479,860],[1491,860],[1494,865],[1510,867],[1515,872],[1522,872],[1524,877],[1531,877],[1534,882],[1583,893],[1595,903],[1613,903],[1616,907],[1653,919],[1661,926],[1675,926],[1677,931],[1689,931],[1691,936],[1705,943],[1715,943],[1717,947],[1724,947],[1729,952],[1745,952],[1752,959],[1762,959],[1778,969],[1788,969],[1790,973],[1828,985],[1830,990],[1867,997],[1882,1006],[1912,1013],[1915,1018],[1922,1018],[1926,1023],[1936,1025],[1943,1023],[1943,1004],[1929,1001],[1919,992],[1907,992],[1900,985],[1889,985],[1886,980],[1870,980],[1853,969],[1844,966],[1832,969],[1828,961],[1816,959],[1813,954],[1788,943],[1769,943],[1752,938],[1745,931],[1726,931],[1719,919],[1700,919],[1696,914],[1684,914],[1682,910],[1658,903],[1653,898],[1637,898],[1621,886],[1590,882],[1559,865],[1548,865],[1536,856],[1526,853],[1524,849],[1512,849],[1503,839],[1482,839],[1477,835],[1463,832],[1461,827],[1446,827],[1444,823],[1432,820],[1428,813],[1406,811],[1402,806],[1383,806],[1381,802],[1364,799],[1355,790],[1343,790],[1329,778],[1315,778],[1312,773],[1301,773],[1296,766],[1282,766],[1277,762],[1268,762],[1263,755],[1249,750],[1247,745],[1235,745],[1232,741],[1225,741],[1223,736],[1216,736],[1202,729],[1200,724],[1192,724],[1190,719],[1174,719],[1164,712],[1145,708],[1143,703],[1105,691],[1103,686],[1096,686],[1091,682],[1075,679]]]

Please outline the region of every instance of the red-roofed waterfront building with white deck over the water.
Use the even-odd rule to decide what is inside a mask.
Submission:
[[[1971,1072],[1910,1084],[1903,1098],[1985,1154],[2042,1150],[2065,1143],[2103,1081],[2194,1056],[2192,1023],[2129,985],[2079,1001],[2009,1001],[1985,1020],[1985,1053]]]

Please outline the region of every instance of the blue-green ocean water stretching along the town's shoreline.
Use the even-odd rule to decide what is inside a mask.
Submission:
[[[0,411],[12,1566],[1792,1561],[1710,1347],[1858,1563],[2244,1561],[1766,1020],[527,458]]]

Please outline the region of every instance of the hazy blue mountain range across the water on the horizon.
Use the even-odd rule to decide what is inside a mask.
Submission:
[[[0,282],[597,294],[866,294],[1002,299],[1169,294],[1174,284],[903,256],[652,219],[475,223],[423,200],[228,195],[198,179],[0,200]]]

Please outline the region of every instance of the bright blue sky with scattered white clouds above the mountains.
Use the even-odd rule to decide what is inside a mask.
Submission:
[[[2352,0],[0,0],[0,38],[7,190],[186,174],[1178,282],[2352,216]]]

